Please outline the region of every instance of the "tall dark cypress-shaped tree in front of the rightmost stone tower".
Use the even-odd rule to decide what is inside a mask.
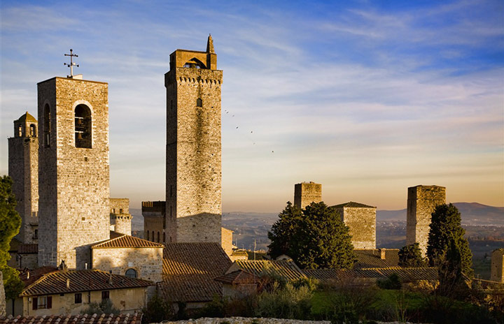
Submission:
[[[427,256],[431,266],[439,268],[441,293],[456,293],[472,279],[472,253],[463,235],[461,214],[452,205],[435,207],[430,222]]]

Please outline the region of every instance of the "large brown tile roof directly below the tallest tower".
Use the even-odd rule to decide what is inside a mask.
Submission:
[[[163,250],[163,281],[158,288],[173,302],[207,302],[222,295],[215,281],[231,260],[218,243],[168,243]]]

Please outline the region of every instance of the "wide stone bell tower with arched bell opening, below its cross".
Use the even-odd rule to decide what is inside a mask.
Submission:
[[[38,264],[84,269],[110,237],[109,85],[52,78],[38,86]]]

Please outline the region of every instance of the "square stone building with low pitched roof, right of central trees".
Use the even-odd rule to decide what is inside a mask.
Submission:
[[[354,249],[376,248],[376,207],[351,201],[332,208],[349,227]]]

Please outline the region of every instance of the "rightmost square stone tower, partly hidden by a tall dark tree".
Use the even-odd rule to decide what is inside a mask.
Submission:
[[[425,256],[427,253],[430,219],[437,205],[446,203],[444,186],[412,186],[408,188],[406,244],[419,243]]]

